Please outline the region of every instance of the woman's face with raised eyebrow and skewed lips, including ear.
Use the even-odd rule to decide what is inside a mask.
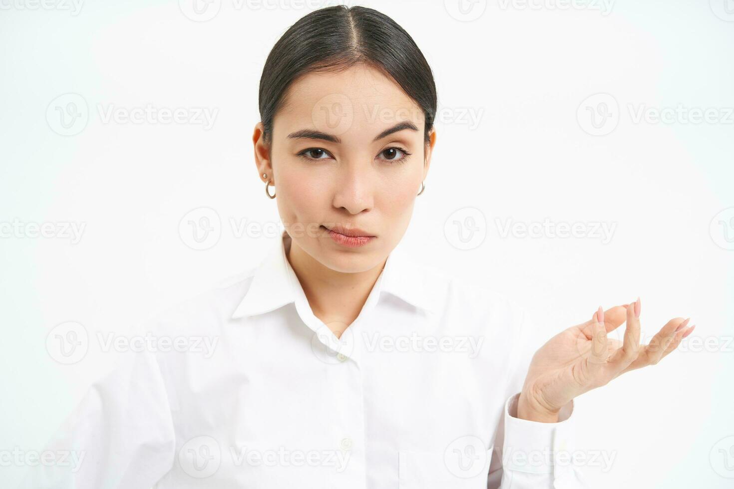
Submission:
[[[253,136],[258,171],[275,185],[293,243],[335,271],[382,265],[407,229],[435,144],[431,133],[424,145],[418,105],[379,70],[356,65],[299,78],[275,116],[270,147],[262,128]],[[335,227],[373,238],[348,246]]]

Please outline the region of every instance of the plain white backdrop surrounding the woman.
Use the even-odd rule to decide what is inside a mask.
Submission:
[[[258,80],[278,37],[321,6],[81,1],[0,0],[0,222],[84,225],[78,242],[0,228],[3,450],[41,449],[123,354],[92,342],[59,364],[55,326],[124,334],[271,246],[237,227],[278,221],[252,157]],[[647,337],[690,316],[680,351],[578,398],[579,446],[614,455],[584,473],[594,488],[732,487],[734,2],[456,3],[360,3],[415,39],[443,109],[404,246],[526,306],[541,341],[638,295]],[[81,118],[65,129],[70,102]],[[105,120],[148,104],[216,117]],[[610,117],[595,129],[592,114]],[[179,223],[200,207],[221,237],[195,250]],[[546,218],[587,232],[503,232]],[[479,237],[470,249],[454,221]],[[23,470],[0,467],[0,486]]]

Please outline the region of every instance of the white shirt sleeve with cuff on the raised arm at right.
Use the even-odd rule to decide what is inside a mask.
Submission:
[[[535,351],[550,336],[539,332],[525,309],[513,304],[519,331],[512,346],[506,402],[495,438],[487,489],[582,489],[583,474],[575,460],[575,401],[565,405],[559,422],[517,418],[517,401]],[[548,336],[548,337],[546,337]],[[537,339],[539,338],[539,340]]]

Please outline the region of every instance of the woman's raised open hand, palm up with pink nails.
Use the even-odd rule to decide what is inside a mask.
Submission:
[[[655,365],[691,334],[688,320],[669,320],[649,345],[640,345],[639,298],[633,304],[601,307],[586,323],[567,328],[535,352],[517,404],[517,417],[558,422],[559,411],[579,394],[605,386],[625,372]],[[623,342],[608,339],[626,320]]]

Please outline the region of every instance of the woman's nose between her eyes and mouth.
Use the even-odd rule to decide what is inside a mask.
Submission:
[[[374,206],[375,175],[370,163],[343,163],[335,176],[334,207],[356,215]]]

